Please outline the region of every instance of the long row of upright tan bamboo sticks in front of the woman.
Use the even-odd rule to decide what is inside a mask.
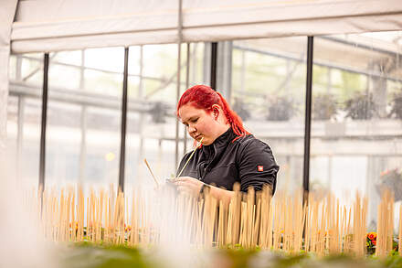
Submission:
[[[356,194],[350,206],[328,194],[310,194],[302,203],[302,191],[284,192],[271,198],[270,188],[247,194],[235,185],[230,201],[217,200],[207,189],[202,197],[161,187],[154,193],[133,189],[130,194],[100,189],[86,197],[81,187],[46,189],[29,193],[36,204],[41,228],[52,241],[148,246],[186,242],[196,247],[244,248],[314,252],[317,255],[350,253],[365,255],[367,198]],[[392,250],[392,195],[385,191],[378,205],[376,254]],[[400,216],[402,216],[402,209]],[[399,245],[402,223],[399,223]],[[399,251],[400,251],[399,246]]]

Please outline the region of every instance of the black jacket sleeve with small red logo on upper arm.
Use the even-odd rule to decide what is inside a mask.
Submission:
[[[272,188],[273,195],[279,168],[270,146],[259,139],[250,139],[240,146],[238,172],[241,191],[247,191],[249,187],[259,191],[267,184]]]

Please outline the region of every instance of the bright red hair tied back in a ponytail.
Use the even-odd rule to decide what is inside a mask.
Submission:
[[[180,108],[188,103],[197,109],[204,109],[207,113],[211,113],[212,105],[219,105],[227,118],[227,123],[230,123],[233,132],[238,135],[238,137],[232,142],[236,141],[241,136],[249,134],[249,132],[244,128],[243,122],[241,121],[240,116],[238,116],[238,113],[231,110],[225,98],[222,97],[219,92],[214,91],[210,87],[196,85],[186,90],[177,103],[177,117],[179,117]]]

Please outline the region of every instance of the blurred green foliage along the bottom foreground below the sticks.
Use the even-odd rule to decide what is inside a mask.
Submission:
[[[370,233],[369,233],[370,234]],[[367,236],[369,235],[367,234]],[[165,251],[165,250],[164,250]],[[175,249],[173,249],[175,251]],[[190,249],[194,267],[371,267],[394,268],[402,266],[402,257],[394,248],[385,258],[369,254],[367,258],[357,258],[348,254],[331,254],[317,256],[305,252],[271,252],[256,249],[213,249],[203,252]],[[374,253],[374,252],[372,252]],[[188,256],[186,256],[188,257]],[[183,259],[166,259],[160,249],[131,248],[128,246],[108,246],[94,243],[70,244],[58,247],[60,267],[69,268],[112,268],[112,267],[185,267],[179,263]],[[174,265],[175,264],[175,265]]]

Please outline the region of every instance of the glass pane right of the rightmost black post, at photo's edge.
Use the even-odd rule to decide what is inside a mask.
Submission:
[[[369,228],[380,188],[402,199],[401,40],[401,31],[314,38],[311,183],[341,200],[366,195]]]

